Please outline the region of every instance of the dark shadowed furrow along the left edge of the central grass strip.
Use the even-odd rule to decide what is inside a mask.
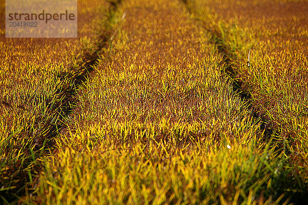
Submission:
[[[113,18],[113,11],[117,10],[118,5],[121,3],[121,0],[117,1],[108,1],[110,4],[109,13],[107,13],[107,22],[104,26],[108,27],[108,23]],[[100,28],[99,35],[91,38],[94,40],[90,49],[84,48],[82,54],[78,54],[76,59],[78,59],[78,67],[72,66],[69,68],[68,72],[62,72],[57,74],[57,78],[61,79],[63,82],[63,86],[61,89],[57,90],[55,93],[56,99],[59,99],[57,103],[53,103],[53,100],[47,100],[46,105],[47,109],[51,110],[52,113],[56,113],[51,119],[39,119],[43,121],[45,124],[46,135],[43,140],[46,140],[46,144],[41,143],[40,140],[37,139],[36,146],[33,149],[34,155],[36,152],[41,149],[54,149],[54,138],[66,127],[65,121],[66,118],[73,112],[74,107],[76,105],[76,101],[74,96],[76,95],[76,88],[80,87],[82,83],[87,79],[88,74],[92,72],[92,66],[97,64],[97,60],[99,59],[99,52],[108,46],[108,40],[112,34],[111,28]],[[80,56],[79,56],[80,55]],[[56,119],[56,120],[54,120]],[[29,133],[30,135],[34,135],[34,133]],[[42,150],[43,151],[43,150]],[[43,151],[45,152],[45,151]],[[46,151],[43,156],[48,155],[48,151]],[[37,172],[41,170],[41,164],[35,165],[34,168]],[[21,172],[24,178],[27,177],[28,172]],[[33,183],[29,184],[26,180],[21,180],[18,182],[18,185],[15,189],[18,190],[15,194],[20,193],[21,195],[26,195],[25,191],[28,194],[31,194],[37,184],[38,184],[38,176],[32,176]],[[28,186],[32,186],[32,189],[28,190]],[[32,194],[31,194],[32,195]],[[9,203],[16,201],[16,196],[12,196],[11,193],[1,193],[0,195],[2,199],[4,198]],[[0,198],[1,199],[1,198]],[[1,200],[0,200],[1,203]]]

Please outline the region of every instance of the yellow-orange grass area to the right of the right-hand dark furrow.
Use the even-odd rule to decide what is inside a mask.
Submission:
[[[278,4],[284,6],[280,12],[266,13],[268,8],[278,9]],[[269,136],[275,137],[274,145],[292,158],[290,166],[298,170],[305,185],[299,193],[306,193],[307,38],[302,32],[306,4],[193,0],[187,6],[202,26],[213,28],[210,32],[232,61],[233,79],[241,83],[238,91],[249,94],[247,100]]]

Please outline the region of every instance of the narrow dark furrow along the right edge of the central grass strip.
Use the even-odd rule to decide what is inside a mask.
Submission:
[[[185,6],[189,13],[193,14],[194,11],[191,9],[191,5],[187,2],[187,0],[180,0]],[[209,28],[209,25],[204,22],[202,19],[198,17],[194,17],[194,20],[197,22],[198,25],[201,24],[202,28],[208,31],[210,34],[210,43],[214,44],[218,50],[218,52],[223,57],[222,67],[223,67],[223,74],[227,75],[233,82],[233,90],[235,93],[238,93],[241,98],[247,101],[249,109],[253,110],[253,117],[256,121],[261,122],[260,128],[264,130],[264,135],[262,136],[262,140],[266,140],[271,138],[271,136],[276,132],[273,128],[269,127],[266,124],[266,119],[259,115],[259,111],[252,107],[252,95],[249,93],[249,86],[245,84],[245,82],[240,79],[240,73],[235,69],[236,66],[239,64],[238,61],[234,59],[234,56],[229,52],[228,46],[224,43],[222,33],[218,27]]]

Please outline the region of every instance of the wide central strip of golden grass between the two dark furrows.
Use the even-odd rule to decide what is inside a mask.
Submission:
[[[300,196],[303,178],[288,164],[291,157],[273,146],[271,136],[264,140],[261,120],[225,73],[226,55],[242,60],[253,45],[245,44],[244,34],[229,38],[241,29],[217,25],[226,32],[216,36],[229,49],[224,54],[213,33],[191,26],[184,5],[146,7],[125,1],[115,13],[118,19],[127,15],[112,49],[80,87],[69,128],[57,139],[59,152],[45,163],[42,200],[275,204]],[[177,21],[171,14],[166,26],[160,16],[168,9],[177,11]],[[189,43],[178,39],[197,28]]]

